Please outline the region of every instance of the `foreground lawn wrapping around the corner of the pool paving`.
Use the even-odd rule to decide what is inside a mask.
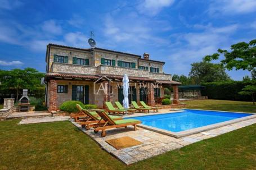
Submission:
[[[197,103],[200,102],[205,101],[201,100]],[[192,107],[191,102],[188,103]],[[208,105],[206,107],[208,108]],[[199,108],[201,109],[202,106]],[[252,108],[255,109],[253,106]],[[239,111],[244,111],[244,105]],[[68,121],[21,126],[17,125],[18,122],[19,120],[0,122],[0,169],[254,169],[256,167],[256,124],[125,166],[101,150],[95,141]]]

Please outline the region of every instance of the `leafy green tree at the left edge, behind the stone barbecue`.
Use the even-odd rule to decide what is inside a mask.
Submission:
[[[16,102],[18,102],[21,89],[35,90],[41,86],[41,79],[44,73],[34,68],[0,70],[0,81],[2,89],[14,89],[16,91]]]

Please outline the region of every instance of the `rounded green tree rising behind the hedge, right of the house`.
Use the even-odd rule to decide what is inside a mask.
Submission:
[[[202,82],[231,80],[225,72],[225,68],[221,64],[203,61],[192,63],[191,66],[192,68],[189,75],[196,84],[201,84]]]

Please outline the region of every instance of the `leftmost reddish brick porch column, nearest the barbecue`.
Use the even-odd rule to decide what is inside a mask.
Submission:
[[[57,111],[57,80],[50,80],[50,99],[48,111]]]

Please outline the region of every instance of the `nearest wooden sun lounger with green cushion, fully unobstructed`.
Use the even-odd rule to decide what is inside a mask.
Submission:
[[[98,115],[105,121],[105,123],[98,123],[95,126],[94,132],[97,134],[98,131],[102,130],[101,137],[106,136],[106,130],[110,128],[117,128],[117,127],[127,127],[129,125],[134,126],[134,130],[136,130],[136,125],[141,123],[141,121],[134,120],[134,119],[125,119],[125,120],[113,120],[106,112],[98,112]]]

